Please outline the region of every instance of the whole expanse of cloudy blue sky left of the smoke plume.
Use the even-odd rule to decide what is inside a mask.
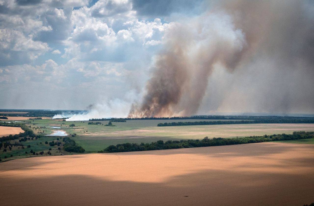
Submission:
[[[8,102],[16,93],[8,85],[41,94],[67,87],[85,91],[89,101],[122,97],[130,85],[145,82],[137,80],[146,77],[141,69],[147,70],[171,25],[138,19],[131,0],[99,0],[91,7],[89,0],[0,2],[6,11],[0,13],[0,82],[13,94]],[[54,104],[70,104],[72,95],[64,93]]]

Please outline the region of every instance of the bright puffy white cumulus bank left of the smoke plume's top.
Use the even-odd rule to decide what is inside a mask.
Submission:
[[[111,9],[111,15],[95,15],[100,5],[101,8],[114,6],[125,9]],[[75,29],[64,41],[66,47],[62,57],[88,61],[126,61],[134,56],[134,50],[144,53],[148,45],[161,44],[165,30],[171,24],[161,23],[159,18],[154,21],[139,20],[133,16],[130,5],[128,1],[99,1],[90,8],[73,11],[71,22]],[[116,22],[117,19],[125,21]],[[119,26],[114,26],[117,24]]]

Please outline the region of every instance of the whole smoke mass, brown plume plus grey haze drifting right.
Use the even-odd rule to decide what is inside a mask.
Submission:
[[[193,115],[208,94],[217,99],[203,104],[216,111],[243,111],[251,103],[252,112],[314,110],[310,1],[225,1],[174,24],[164,45],[129,117]],[[208,86],[216,70],[233,74],[219,80],[223,90]],[[241,103],[235,108],[230,101]]]

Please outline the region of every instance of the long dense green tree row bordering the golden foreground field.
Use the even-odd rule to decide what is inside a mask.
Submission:
[[[124,143],[110,145],[102,151],[98,152],[131,152],[131,151],[149,151],[149,150],[167,150],[179,148],[192,147],[208,147],[208,146],[222,146],[222,145],[238,145],[247,143],[281,141],[281,140],[299,140],[314,138],[314,132],[293,132],[293,134],[279,134],[279,135],[264,135],[264,136],[249,136],[236,138],[213,138],[205,137],[203,140],[158,140],[152,143]]]

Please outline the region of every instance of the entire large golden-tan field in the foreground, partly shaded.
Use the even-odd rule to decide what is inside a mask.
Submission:
[[[1,205],[302,206],[314,145],[257,143],[0,163]]]

